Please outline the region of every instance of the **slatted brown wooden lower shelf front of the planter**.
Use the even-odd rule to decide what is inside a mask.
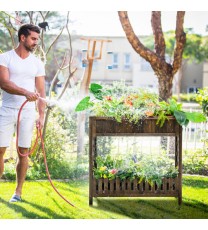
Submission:
[[[92,184],[93,197],[118,197],[118,196],[170,196],[177,197],[179,191],[178,177],[164,178],[162,184],[158,186],[153,183],[151,186],[148,182],[138,179],[120,180],[118,178],[109,179],[93,179]]]

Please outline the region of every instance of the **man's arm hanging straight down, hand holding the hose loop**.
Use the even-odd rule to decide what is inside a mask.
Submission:
[[[40,97],[45,98],[45,77],[36,77],[35,78],[35,87],[37,90],[37,93],[40,95]],[[36,122],[36,125],[39,128],[42,128],[44,125],[44,116],[45,116],[45,102],[42,100],[37,101],[37,108],[38,108],[38,113],[39,113],[39,119]]]

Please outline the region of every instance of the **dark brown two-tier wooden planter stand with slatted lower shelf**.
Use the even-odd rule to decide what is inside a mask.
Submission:
[[[182,127],[172,116],[160,127],[157,117],[149,117],[138,124],[128,121],[117,122],[113,118],[89,118],[89,204],[93,197],[176,197],[182,202]],[[138,179],[121,180],[119,178],[96,179],[93,169],[96,168],[97,137],[99,136],[172,136],[175,139],[175,167],[178,175],[175,178],[164,178],[161,185],[150,185]]]

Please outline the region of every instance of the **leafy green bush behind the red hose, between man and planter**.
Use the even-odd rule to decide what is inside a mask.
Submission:
[[[77,165],[76,156],[70,157],[69,155],[71,138],[74,136],[72,133],[70,134],[68,125],[70,124],[60,111],[56,110],[56,113],[51,114],[44,141],[48,168],[52,178],[80,177],[88,171],[88,164]],[[37,154],[40,157],[37,158]],[[28,170],[27,178],[47,178],[42,150],[39,148],[31,156],[31,167]]]

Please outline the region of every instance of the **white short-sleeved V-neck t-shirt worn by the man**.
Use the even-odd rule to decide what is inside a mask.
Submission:
[[[0,65],[8,68],[10,81],[31,92],[35,91],[35,78],[45,76],[44,64],[32,53],[22,59],[10,50],[0,54]],[[19,109],[25,100],[25,96],[2,92],[2,106]],[[35,103],[28,102],[24,108],[35,108]]]

